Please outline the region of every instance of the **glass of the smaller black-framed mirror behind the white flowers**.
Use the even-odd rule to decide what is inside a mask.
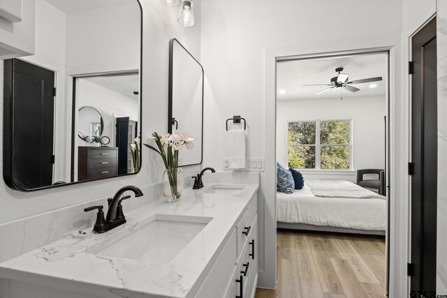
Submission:
[[[168,132],[189,133],[194,150],[179,151],[179,165],[203,159],[203,67],[175,38],[169,43]]]

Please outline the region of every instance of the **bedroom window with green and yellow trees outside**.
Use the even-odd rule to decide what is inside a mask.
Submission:
[[[289,167],[349,170],[352,149],[351,121],[289,122],[287,147]]]

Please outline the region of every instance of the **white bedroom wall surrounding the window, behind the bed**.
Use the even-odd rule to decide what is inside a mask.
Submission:
[[[385,62],[385,61],[384,61]],[[353,167],[383,169],[385,165],[386,97],[363,96],[277,100],[277,161],[287,166],[287,121],[352,119]],[[306,179],[346,179],[356,173],[322,174],[302,170]]]

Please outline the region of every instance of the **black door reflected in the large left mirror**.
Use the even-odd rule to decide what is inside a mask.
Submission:
[[[11,107],[11,183],[23,190],[52,185],[54,71],[20,59],[4,61],[6,105]],[[7,178],[7,177],[6,177]]]

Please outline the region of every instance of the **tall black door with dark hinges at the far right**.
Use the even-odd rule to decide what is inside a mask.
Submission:
[[[437,50],[436,19],[411,38],[411,291],[436,290]],[[432,292],[432,293],[430,293]],[[431,296],[430,296],[431,297]],[[434,297],[434,296],[433,296]]]

